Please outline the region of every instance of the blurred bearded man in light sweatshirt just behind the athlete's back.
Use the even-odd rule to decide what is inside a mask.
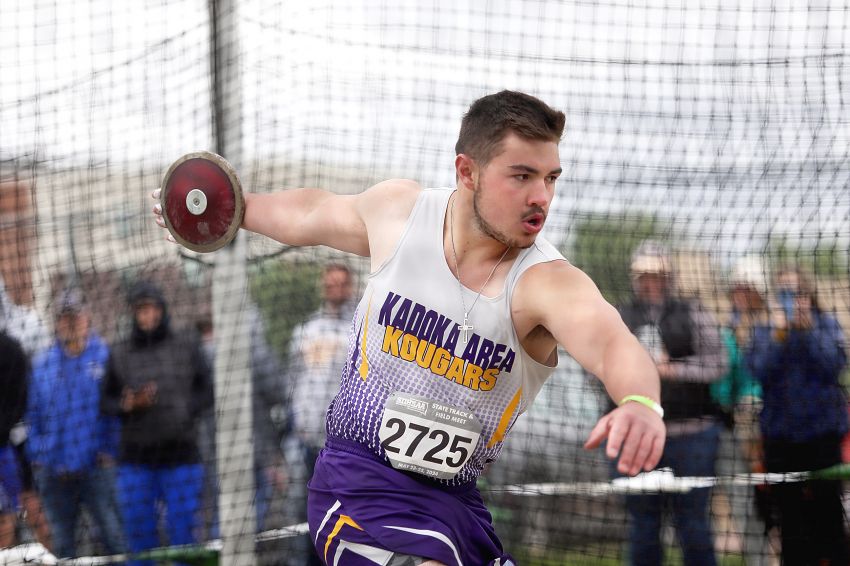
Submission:
[[[303,509],[296,520],[306,517],[306,485],[313,475],[319,451],[325,445],[325,413],[337,391],[348,353],[348,333],[356,303],[354,276],[342,263],[328,264],[321,279],[322,306],[292,335],[289,349],[288,382],[292,388],[293,435],[287,448],[295,505]],[[294,455],[293,455],[294,454]],[[313,545],[307,545],[308,564],[321,564]]]

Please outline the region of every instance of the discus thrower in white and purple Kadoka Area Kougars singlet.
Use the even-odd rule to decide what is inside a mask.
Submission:
[[[245,195],[243,228],[371,259],[309,484],[310,534],[327,564],[513,564],[475,480],[552,373],[558,344],[619,404],[585,447],[607,439],[624,474],[659,461],[652,360],[590,279],[538,238],[564,120],[503,91],[464,116],[454,189],[389,180],[358,195]]]

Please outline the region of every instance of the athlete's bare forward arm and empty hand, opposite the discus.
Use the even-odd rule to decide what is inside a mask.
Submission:
[[[661,385],[655,364],[616,309],[581,270],[566,262],[545,265],[534,278],[536,292],[530,305],[540,324],[602,381],[615,403],[628,395],[658,402]],[[628,402],[599,420],[585,447],[596,448],[607,439],[608,457],[619,456],[620,473],[634,475],[658,464],[665,436],[657,413]]]

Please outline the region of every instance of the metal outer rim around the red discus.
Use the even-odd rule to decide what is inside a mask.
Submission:
[[[207,243],[196,243],[187,240],[183,236],[180,235],[179,231],[175,228],[173,223],[171,222],[170,216],[166,212],[165,203],[168,202],[168,195],[170,192],[169,181],[177,170],[178,167],[186,163],[187,161],[191,161],[193,159],[202,159],[204,161],[208,161],[218,167],[226,176],[228,181],[230,182],[230,186],[233,189],[233,200],[234,200],[234,214],[233,220],[230,222],[228,229],[218,238],[211,242]],[[239,228],[242,225],[242,218],[245,214],[245,197],[242,192],[242,183],[239,181],[239,176],[236,174],[236,170],[233,166],[222,156],[217,153],[213,153],[211,151],[193,151],[191,153],[187,153],[181,157],[179,157],[168,170],[163,175],[162,183],[160,184],[162,189],[162,193],[160,195],[160,202],[163,203],[163,214],[162,218],[165,221],[165,227],[168,229],[168,232],[171,236],[179,243],[181,246],[192,250],[198,253],[209,253],[219,250],[229,244],[236,237],[236,234],[239,232]],[[192,189],[193,191],[197,190],[201,191],[200,188]],[[187,208],[189,207],[189,203],[187,202]],[[206,202],[204,202],[204,209],[206,209]],[[188,208],[191,214],[200,214],[198,212],[193,212],[191,208]],[[203,212],[203,211],[201,211]]]

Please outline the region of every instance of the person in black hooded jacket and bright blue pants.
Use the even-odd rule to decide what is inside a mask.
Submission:
[[[121,417],[118,500],[130,551],[138,552],[160,545],[161,508],[168,543],[196,542],[204,473],[198,421],[213,392],[197,336],[171,328],[160,289],[138,282],[128,302],[132,333],[112,348],[101,408]]]

